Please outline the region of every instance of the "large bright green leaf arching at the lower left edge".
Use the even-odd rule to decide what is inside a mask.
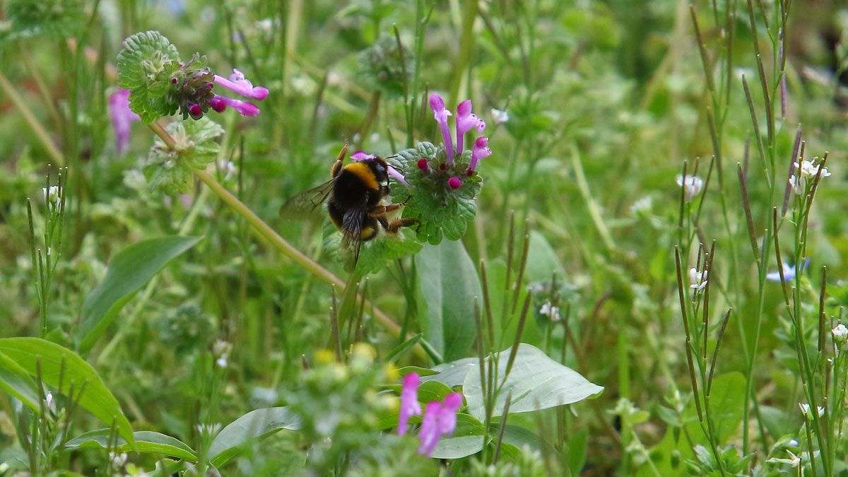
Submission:
[[[41,368],[42,381],[65,396],[69,396],[73,386],[71,397],[82,408],[104,424],[111,426],[114,421],[118,434],[131,446],[134,445],[132,426],[121,412],[120,404],[103,384],[97,371],[74,351],[39,338],[3,338],[0,339],[0,353],[13,359],[33,377]],[[80,390],[82,394],[77,396]]]

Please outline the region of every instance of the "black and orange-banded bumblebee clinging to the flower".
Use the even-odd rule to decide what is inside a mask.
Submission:
[[[342,246],[354,246],[354,263],[359,259],[362,242],[382,233],[398,233],[400,227],[416,223],[413,219],[393,219],[389,212],[403,204],[388,204],[388,164],[382,157],[354,160],[344,165],[348,154],[345,143],[330,168],[331,179],[316,188],[288,199],[280,208],[284,218],[303,218],[326,202],[330,221],[342,233]]]

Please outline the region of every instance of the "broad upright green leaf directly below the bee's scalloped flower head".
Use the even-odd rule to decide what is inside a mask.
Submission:
[[[482,296],[471,257],[461,242],[425,245],[416,270],[424,337],[445,360],[465,356],[477,335],[474,300]]]

